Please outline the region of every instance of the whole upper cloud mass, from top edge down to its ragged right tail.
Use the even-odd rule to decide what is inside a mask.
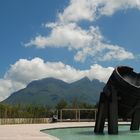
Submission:
[[[74,59],[84,62],[87,57],[98,61],[134,59],[134,54],[123,46],[108,44],[99,27],[84,29],[79,22],[93,22],[101,16],[111,16],[118,10],[140,9],[140,0],[70,0],[63,12],[58,14],[54,23],[47,23],[51,32],[47,36],[36,36],[25,46],[67,47],[76,52]]]

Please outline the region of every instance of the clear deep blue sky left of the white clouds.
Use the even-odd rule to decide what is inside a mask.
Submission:
[[[20,58],[46,58],[44,50],[25,48],[22,43],[37,33],[46,33],[42,23],[54,21],[57,11],[62,9],[65,3],[66,0],[59,3],[56,3],[56,0],[0,1],[0,76],[3,76],[10,64]]]

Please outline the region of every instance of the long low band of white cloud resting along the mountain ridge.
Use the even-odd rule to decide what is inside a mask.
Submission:
[[[41,58],[20,59],[0,79],[0,101],[33,80],[53,77],[71,83],[87,76],[90,80],[106,82],[112,71],[112,67],[104,68],[98,64],[87,70],[78,70],[62,62],[44,62]]]

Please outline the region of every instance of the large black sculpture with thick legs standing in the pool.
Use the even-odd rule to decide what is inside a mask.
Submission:
[[[110,76],[100,94],[95,133],[103,133],[105,119],[108,119],[108,133],[118,134],[118,116],[130,118],[130,130],[140,126],[140,74],[133,68],[119,66]]]

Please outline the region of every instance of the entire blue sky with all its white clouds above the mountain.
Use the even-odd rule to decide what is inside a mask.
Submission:
[[[140,71],[140,1],[100,0],[97,6],[95,3],[0,1],[0,100],[43,77],[54,75],[72,82],[88,76],[105,82],[118,65]],[[52,67],[60,71],[53,73]],[[106,70],[109,73],[104,76]],[[75,78],[67,76],[69,72]]]

